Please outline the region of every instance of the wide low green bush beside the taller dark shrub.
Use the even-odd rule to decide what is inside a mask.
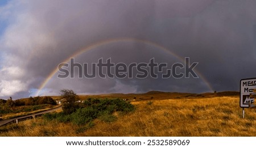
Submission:
[[[94,119],[100,119],[105,122],[112,122],[117,119],[113,115],[114,112],[130,112],[134,110],[134,106],[121,99],[87,99],[71,114],[52,113],[44,116],[47,120],[56,119],[60,122],[72,122],[76,125],[85,125]]]

